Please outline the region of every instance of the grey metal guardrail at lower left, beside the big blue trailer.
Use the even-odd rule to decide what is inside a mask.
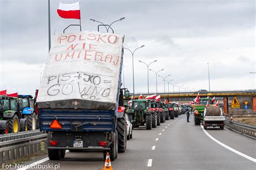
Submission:
[[[0,136],[0,164],[33,155],[46,149],[47,134],[42,131],[11,133]],[[43,147],[41,143],[44,142]]]

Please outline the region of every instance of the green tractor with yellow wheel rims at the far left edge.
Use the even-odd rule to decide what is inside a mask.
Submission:
[[[0,96],[0,134],[28,130],[26,120],[21,119],[18,108],[18,98]]]

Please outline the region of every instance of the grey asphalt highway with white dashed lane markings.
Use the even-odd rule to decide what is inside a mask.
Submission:
[[[207,129],[186,122],[186,115],[166,120],[157,128],[136,128],[127,141],[125,153],[111,162],[113,169],[255,169],[256,142],[227,128]],[[225,146],[231,147],[227,149]],[[237,153],[235,153],[237,152]],[[239,152],[248,156],[247,159]],[[60,169],[103,169],[105,160],[99,152],[66,153],[59,161]],[[31,163],[31,162],[30,162]]]

